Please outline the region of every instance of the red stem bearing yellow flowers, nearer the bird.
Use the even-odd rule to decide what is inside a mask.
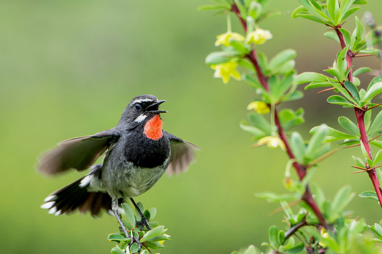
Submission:
[[[236,4],[232,5],[232,9],[231,10],[236,13],[237,17],[239,18],[239,20],[240,20],[240,22],[241,22],[241,24],[242,24],[242,26],[244,28],[244,31],[247,33],[247,23],[241,17],[240,11],[237,9]],[[257,62],[257,56],[256,56],[255,49],[251,50],[251,53],[249,54],[248,57],[251,60],[253,66],[255,67],[255,70],[256,70],[256,73],[257,73],[257,77],[258,77],[258,79],[260,81],[260,84],[264,87],[264,89],[266,91],[269,91],[268,83],[267,83],[263,73],[261,72],[260,66],[259,66],[259,64]],[[288,140],[287,140],[286,135],[284,133],[284,130],[283,130],[282,126],[281,126],[281,123],[280,123],[280,120],[279,120],[279,116],[278,116],[278,113],[277,113],[276,109],[275,109],[275,124],[276,124],[276,126],[278,128],[280,139],[284,142],[284,145],[285,145],[285,148],[287,150],[287,153],[288,153],[289,157],[291,159],[294,159],[295,156],[294,156],[294,154],[292,152],[292,149],[289,146]],[[301,165],[301,164],[299,164],[297,162],[293,163],[293,167],[295,168],[299,179],[302,180],[305,177],[305,175],[306,175],[306,168],[303,165]],[[306,187],[305,193],[302,196],[302,200],[304,200],[312,208],[312,210],[314,211],[314,213],[318,217],[318,219],[320,221],[320,224],[324,228],[328,228],[328,225],[326,224],[326,221],[323,218],[320,209],[318,208],[317,204],[315,203],[315,201],[314,201],[314,199],[312,197],[312,194],[311,194],[310,189],[309,189],[308,186]]]

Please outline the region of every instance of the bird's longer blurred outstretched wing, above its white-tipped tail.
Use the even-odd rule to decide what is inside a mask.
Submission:
[[[58,174],[68,169],[88,169],[119,137],[120,134],[111,129],[92,136],[62,141],[39,157],[36,169],[46,175]]]

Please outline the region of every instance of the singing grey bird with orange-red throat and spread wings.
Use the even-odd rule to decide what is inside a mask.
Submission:
[[[142,218],[142,225],[151,230],[146,217],[133,198],[145,193],[163,175],[184,172],[195,160],[199,147],[162,130],[158,110],[165,100],[144,94],[134,97],[117,125],[91,136],[77,137],[58,143],[38,157],[36,170],[57,175],[70,169],[90,172],[69,185],[56,190],[41,208],[60,215],[78,210],[97,216],[101,210],[113,213],[126,238],[142,247],[130,236],[120,219],[119,205],[130,199]],[[94,164],[105,154],[101,164]],[[94,165],[93,165],[94,164]]]

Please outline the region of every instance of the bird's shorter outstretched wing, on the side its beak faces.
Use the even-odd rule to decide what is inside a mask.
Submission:
[[[168,132],[163,133],[170,140],[171,145],[171,157],[169,167],[166,170],[167,174],[179,174],[187,171],[189,165],[195,161],[195,150],[199,150],[199,147]]]

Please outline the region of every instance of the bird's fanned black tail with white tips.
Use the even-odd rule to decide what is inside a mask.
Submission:
[[[48,213],[60,215],[79,210],[81,213],[90,211],[92,216],[97,216],[101,209],[112,209],[112,199],[106,193],[94,189],[94,179],[99,179],[102,165],[95,165],[92,171],[71,184],[56,190],[45,200],[41,208],[49,209]]]

